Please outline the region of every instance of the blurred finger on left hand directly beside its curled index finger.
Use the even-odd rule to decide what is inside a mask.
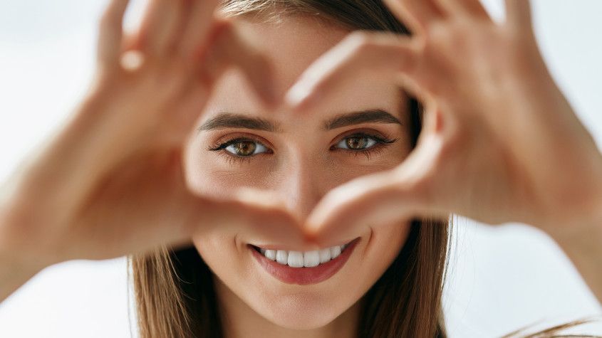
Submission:
[[[219,0],[190,0],[190,20],[177,46],[182,58],[194,58],[199,46],[204,42],[209,34],[214,21],[214,11],[219,4]]]

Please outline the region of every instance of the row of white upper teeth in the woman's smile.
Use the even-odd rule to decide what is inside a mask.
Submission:
[[[259,251],[269,260],[276,260],[276,262],[282,265],[289,265],[291,268],[313,268],[337,258],[341,255],[341,251],[345,250],[347,247],[348,244],[343,244],[322,250],[306,252],[271,250],[264,248],[259,248]]]

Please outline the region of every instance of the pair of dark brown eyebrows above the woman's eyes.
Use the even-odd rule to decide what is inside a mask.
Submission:
[[[363,110],[360,112],[351,112],[327,120],[324,123],[325,130],[334,130],[350,125],[360,125],[361,123],[393,123],[403,125],[401,121],[385,110]],[[204,122],[198,131],[219,130],[226,128],[244,128],[250,130],[262,130],[264,132],[281,132],[281,127],[276,122],[264,120],[259,117],[248,117],[242,114],[233,114],[222,112],[207,122]]]

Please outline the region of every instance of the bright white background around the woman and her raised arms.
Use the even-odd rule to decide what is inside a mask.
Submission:
[[[486,3],[502,17],[500,1]],[[85,93],[104,5],[0,0],[1,180]],[[135,1],[130,18],[140,5]],[[601,144],[602,1],[539,0],[534,9],[546,61]],[[539,231],[462,218],[457,230],[445,296],[451,337],[494,337],[602,314],[569,260]],[[0,305],[0,337],[130,337],[129,303],[124,259],[55,265]],[[580,332],[602,334],[602,324]]]

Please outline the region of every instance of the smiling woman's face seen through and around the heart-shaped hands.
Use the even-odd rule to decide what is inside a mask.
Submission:
[[[241,23],[274,63],[281,94],[349,33],[301,16],[277,25]],[[340,97],[330,109],[311,116],[292,115],[286,108],[267,111],[241,73],[230,71],[217,84],[199,120],[200,131],[187,147],[191,189],[222,197],[243,186],[263,189],[280,196],[291,213],[304,219],[334,187],[400,164],[410,152],[409,115],[400,90],[362,76]],[[366,224],[342,267],[326,280],[309,284],[276,278],[259,263],[263,259],[279,268],[304,271],[323,265],[287,266],[295,265],[292,260],[299,253],[284,253],[287,248],[271,240],[269,233],[257,238],[244,229],[216,231],[194,238],[194,245],[217,276],[222,302],[229,298],[228,302],[238,302],[237,307],[248,307],[280,327],[313,329],[333,322],[360,300],[398,255],[408,230],[408,224],[378,228]],[[259,243],[283,252],[272,261],[251,247]],[[330,251],[322,251],[321,261],[336,260],[332,258],[336,252]],[[266,252],[272,259],[273,253]],[[315,264],[313,258],[308,265]]]

